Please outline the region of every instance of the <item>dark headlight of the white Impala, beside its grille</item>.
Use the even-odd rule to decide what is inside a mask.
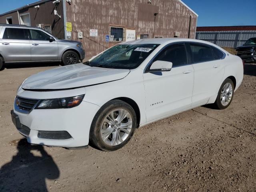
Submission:
[[[36,109],[60,109],[72,108],[78,106],[84,98],[84,95],[58,98],[58,99],[44,99],[39,102]]]

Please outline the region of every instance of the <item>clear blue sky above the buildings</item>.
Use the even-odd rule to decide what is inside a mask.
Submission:
[[[36,0],[0,0],[0,14]],[[153,0],[154,1],[154,0]],[[198,26],[256,25],[256,0],[182,0],[198,16]]]

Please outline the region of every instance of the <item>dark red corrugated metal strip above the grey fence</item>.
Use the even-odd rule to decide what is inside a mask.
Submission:
[[[249,31],[256,30],[256,26],[210,26],[197,27],[196,31]]]

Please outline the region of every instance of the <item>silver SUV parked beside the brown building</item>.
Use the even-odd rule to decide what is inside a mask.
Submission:
[[[63,40],[41,28],[0,24],[0,68],[10,62],[63,62],[64,65],[83,60],[81,42]]]

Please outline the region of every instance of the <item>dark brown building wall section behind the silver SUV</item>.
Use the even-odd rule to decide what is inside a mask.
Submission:
[[[34,6],[39,5],[39,8]],[[49,24],[51,25],[52,34],[58,38],[64,38],[64,22],[63,22],[63,8],[62,3],[53,4],[52,1],[38,3],[33,6],[22,8],[19,14],[30,14],[31,26],[36,27],[36,24]],[[58,14],[62,15],[62,18],[54,15],[54,9],[57,10]],[[0,16],[0,23],[6,24],[6,17],[12,16],[12,23],[19,24],[17,11],[10,14]]]

